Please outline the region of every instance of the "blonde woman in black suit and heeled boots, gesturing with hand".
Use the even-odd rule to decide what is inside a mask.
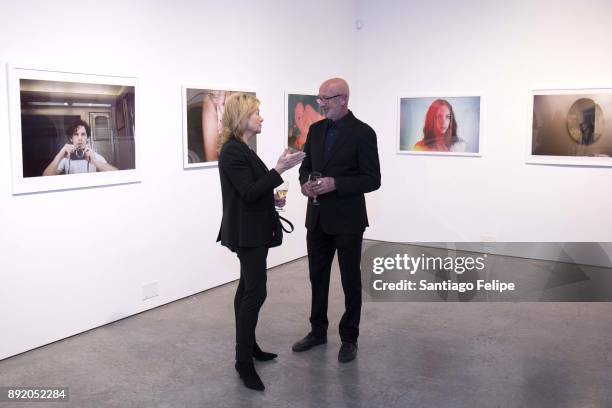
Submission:
[[[246,387],[260,391],[265,387],[253,358],[265,361],[277,356],[262,351],[255,340],[259,309],[266,299],[266,258],[275,226],[274,188],[283,182],[283,172],[304,159],[303,152],[285,151],[276,166],[268,170],[247,146],[249,139],[261,132],[262,122],[259,100],[254,96],[236,93],[226,99],[219,141],[223,218],[217,237],[240,260],[240,282],[234,298],[235,367]]]

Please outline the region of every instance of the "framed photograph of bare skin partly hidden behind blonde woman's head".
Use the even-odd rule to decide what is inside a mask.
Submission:
[[[225,100],[231,94],[255,91],[233,87],[183,85],[183,167],[211,167],[219,158],[219,137]],[[249,140],[257,152],[257,136]]]

